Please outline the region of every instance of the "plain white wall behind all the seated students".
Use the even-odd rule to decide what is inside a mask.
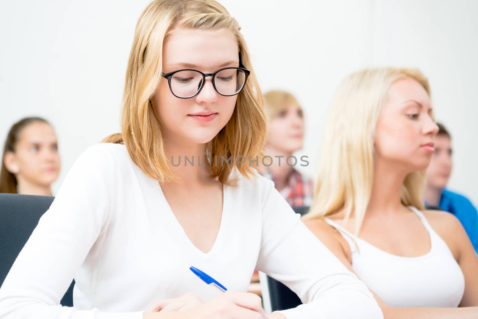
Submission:
[[[453,135],[450,188],[478,204],[478,1],[219,0],[236,17],[263,90],[291,91],[306,115],[314,175],[326,109],[340,79],[363,67],[417,66]],[[21,117],[50,120],[63,169],[119,131],[126,63],[149,0],[3,1],[0,140]],[[294,73],[295,76],[288,76]]]

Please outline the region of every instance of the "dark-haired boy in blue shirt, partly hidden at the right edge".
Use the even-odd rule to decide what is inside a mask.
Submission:
[[[437,124],[439,131],[435,138],[435,154],[427,170],[425,203],[454,214],[478,251],[477,209],[465,196],[445,189],[453,167],[451,136],[443,125]]]

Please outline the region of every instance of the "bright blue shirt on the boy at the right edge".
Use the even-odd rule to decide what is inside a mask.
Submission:
[[[478,251],[478,212],[475,206],[465,196],[447,190],[443,191],[439,206],[458,218]]]

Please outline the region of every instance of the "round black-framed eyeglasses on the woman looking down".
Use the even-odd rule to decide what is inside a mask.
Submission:
[[[202,73],[193,69],[182,69],[161,75],[168,79],[169,89],[174,96],[191,98],[201,92],[206,77],[212,77],[212,85],[222,96],[235,96],[246,84],[250,71],[242,67],[226,67],[214,73]]]

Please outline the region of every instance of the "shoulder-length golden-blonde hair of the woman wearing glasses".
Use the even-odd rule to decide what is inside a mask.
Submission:
[[[226,29],[235,36],[239,63],[251,71],[250,76],[238,95],[230,120],[206,143],[206,151],[211,153],[210,159],[232,156],[231,165],[212,166],[213,175],[221,183],[232,184],[229,175],[234,168],[246,177],[254,175],[256,170],[249,159],[254,162],[256,157],[262,157],[267,133],[261,89],[238,22],[214,0],[155,0],[146,7],[136,26],[126,71],[121,133],[112,134],[103,142],[125,144],[131,159],[150,178],[159,182],[177,180],[166,156],[161,123],[154,110],[154,94],[164,80],[163,44],[176,27]],[[240,156],[248,160],[238,163],[236,159]]]

